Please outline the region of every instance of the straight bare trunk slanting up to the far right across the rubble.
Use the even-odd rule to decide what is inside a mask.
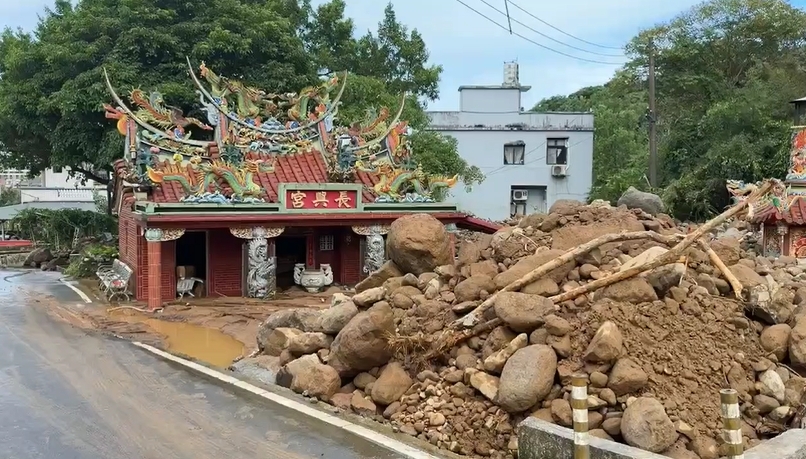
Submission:
[[[777,180],[767,180],[762,184],[756,191],[750,194],[747,199],[739,202],[735,206],[731,207],[730,209],[726,210],[725,212],[717,215],[716,217],[708,220],[707,222],[703,223],[702,226],[697,228],[696,231],[689,233],[680,243],[672,247],[668,252],[664,253],[663,255],[659,256],[655,260],[650,263],[645,263],[643,265],[634,266],[630,269],[625,269],[624,271],[615,273],[613,275],[603,277],[601,279],[597,279],[593,282],[587,283],[581,287],[577,287],[574,290],[569,292],[562,293],[560,295],[555,295],[549,298],[554,304],[562,303],[564,301],[573,300],[578,296],[584,295],[588,292],[593,290],[600,289],[602,287],[607,287],[608,285],[615,284],[616,282],[620,282],[626,279],[629,279],[637,274],[640,274],[644,271],[649,271],[650,269],[655,269],[659,266],[663,266],[669,263],[673,263],[673,260],[680,258],[683,254],[683,251],[688,249],[692,244],[697,242],[702,236],[704,236],[707,232],[714,229],[717,225],[724,222],[728,218],[733,217],[737,213],[741,212],[742,209],[747,207],[752,201],[755,201],[760,196],[767,194],[774,185],[778,183]]]

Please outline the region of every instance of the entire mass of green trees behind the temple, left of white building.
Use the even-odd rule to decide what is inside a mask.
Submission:
[[[0,36],[0,157],[5,167],[37,173],[69,167],[105,183],[123,143],[104,119],[107,68],[121,89],[159,90],[192,113],[198,101],[185,56],[226,76],[273,92],[297,90],[334,71],[349,71],[340,121],[365,116],[409,94],[404,115],[427,124],[441,67],[387,6],[376,33],[355,35],[343,0],[313,8],[309,0],[56,0],[33,32]],[[196,115],[200,115],[196,113]],[[417,141],[435,156],[434,172],[478,180],[449,140]],[[430,171],[429,171],[430,172]]]

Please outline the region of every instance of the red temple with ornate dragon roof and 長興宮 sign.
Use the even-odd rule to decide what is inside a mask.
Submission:
[[[336,117],[346,74],[270,94],[188,65],[205,120],[156,92],[135,89],[127,103],[104,75],[114,101],[106,115],[126,139],[114,164],[120,259],[149,308],[188,285],[271,298],[292,285],[355,284],[385,261],[384,235],[406,214],[429,213],[449,230],[497,229],[435,199],[457,177],[412,160],[404,98],[345,127]]]

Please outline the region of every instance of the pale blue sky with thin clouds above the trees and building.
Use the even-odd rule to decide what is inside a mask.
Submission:
[[[346,2],[347,15],[353,18],[357,34],[377,29],[386,1]],[[506,15],[484,2],[504,10],[504,0],[393,0],[398,19],[422,34],[430,61],[443,66],[440,97],[429,104],[430,110],[458,110],[461,85],[502,83],[507,61],[518,62],[521,84],[532,87],[524,94],[523,105],[527,109],[545,97],[602,84],[618,69],[618,64],[625,62],[620,49],[612,48],[622,47],[640,30],[700,3],[699,0],[514,0],[509,5],[512,29],[524,39],[493,24],[490,20],[507,27]],[[806,0],[791,3],[806,6]],[[36,25],[37,15],[52,4],[52,0],[0,0],[0,25],[31,29]]]

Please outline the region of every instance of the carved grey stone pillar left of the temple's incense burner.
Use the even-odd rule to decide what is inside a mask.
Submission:
[[[263,226],[230,228],[233,236],[249,240],[246,296],[268,299],[277,293],[277,257],[269,250],[269,238],[279,236],[284,230]]]

